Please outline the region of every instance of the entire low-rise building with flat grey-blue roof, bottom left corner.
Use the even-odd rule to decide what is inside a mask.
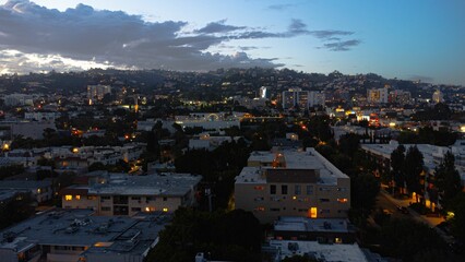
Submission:
[[[136,217],[93,213],[53,210],[4,229],[1,261],[142,262],[170,219],[164,212]]]

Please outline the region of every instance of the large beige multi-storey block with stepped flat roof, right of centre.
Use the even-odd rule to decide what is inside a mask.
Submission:
[[[320,155],[307,151],[253,152],[235,182],[236,209],[261,223],[279,216],[345,218],[350,209],[350,178]]]

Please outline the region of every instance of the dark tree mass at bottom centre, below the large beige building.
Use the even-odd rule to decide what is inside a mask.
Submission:
[[[198,252],[210,260],[260,261],[260,222],[242,210],[207,213],[181,207],[159,238],[146,262],[193,261]]]

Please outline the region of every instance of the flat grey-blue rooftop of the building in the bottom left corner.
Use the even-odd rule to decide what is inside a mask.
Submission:
[[[148,241],[155,241],[170,217],[162,212],[139,217],[93,214],[94,211],[91,210],[57,209],[36,215],[0,231],[0,249],[15,249],[20,252],[34,245],[94,247],[105,242],[107,251],[136,253]],[[7,236],[11,236],[11,239]]]

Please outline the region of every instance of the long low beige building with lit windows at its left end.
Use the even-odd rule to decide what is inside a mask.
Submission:
[[[139,212],[174,212],[195,203],[200,176],[167,174],[111,175],[93,184],[61,190],[63,209],[92,209],[103,216],[132,216]]]

